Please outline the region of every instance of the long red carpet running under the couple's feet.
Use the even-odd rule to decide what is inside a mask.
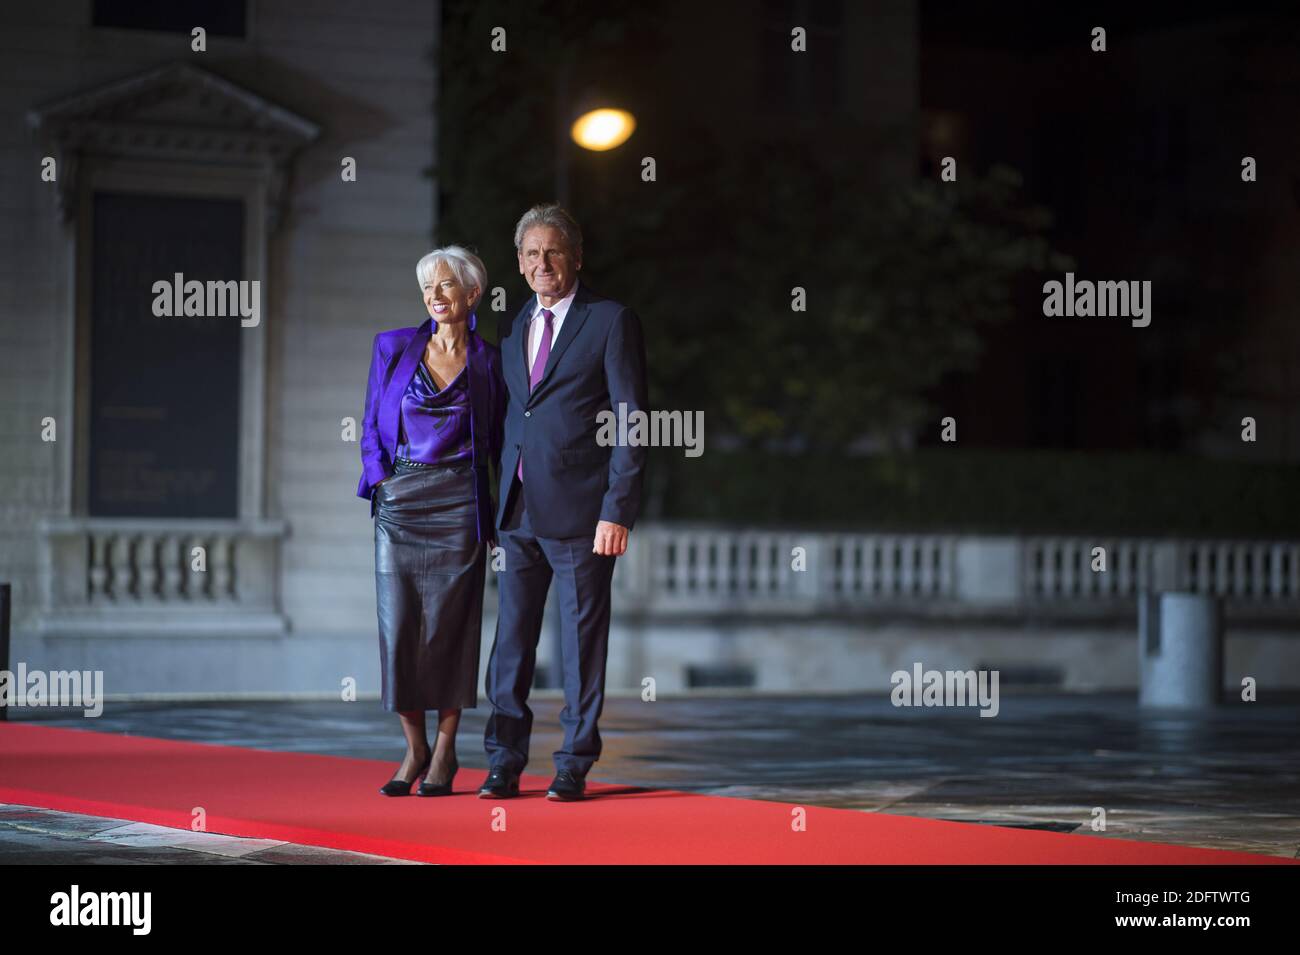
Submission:
[[[599,764],[598,764],[599,765]],[[580,803],[477,798],[485,773],[462,769],[456,794],[377,793],[391,761],[183,743],[0,722],[0,802],[347,848],[429,863],[1243,864],[1277,856],[1131,839],[940,822],[853,809],[588,783]],[[549,769],[547,763],[547,769]],[[506,830],[494,832],[495,808]]]

